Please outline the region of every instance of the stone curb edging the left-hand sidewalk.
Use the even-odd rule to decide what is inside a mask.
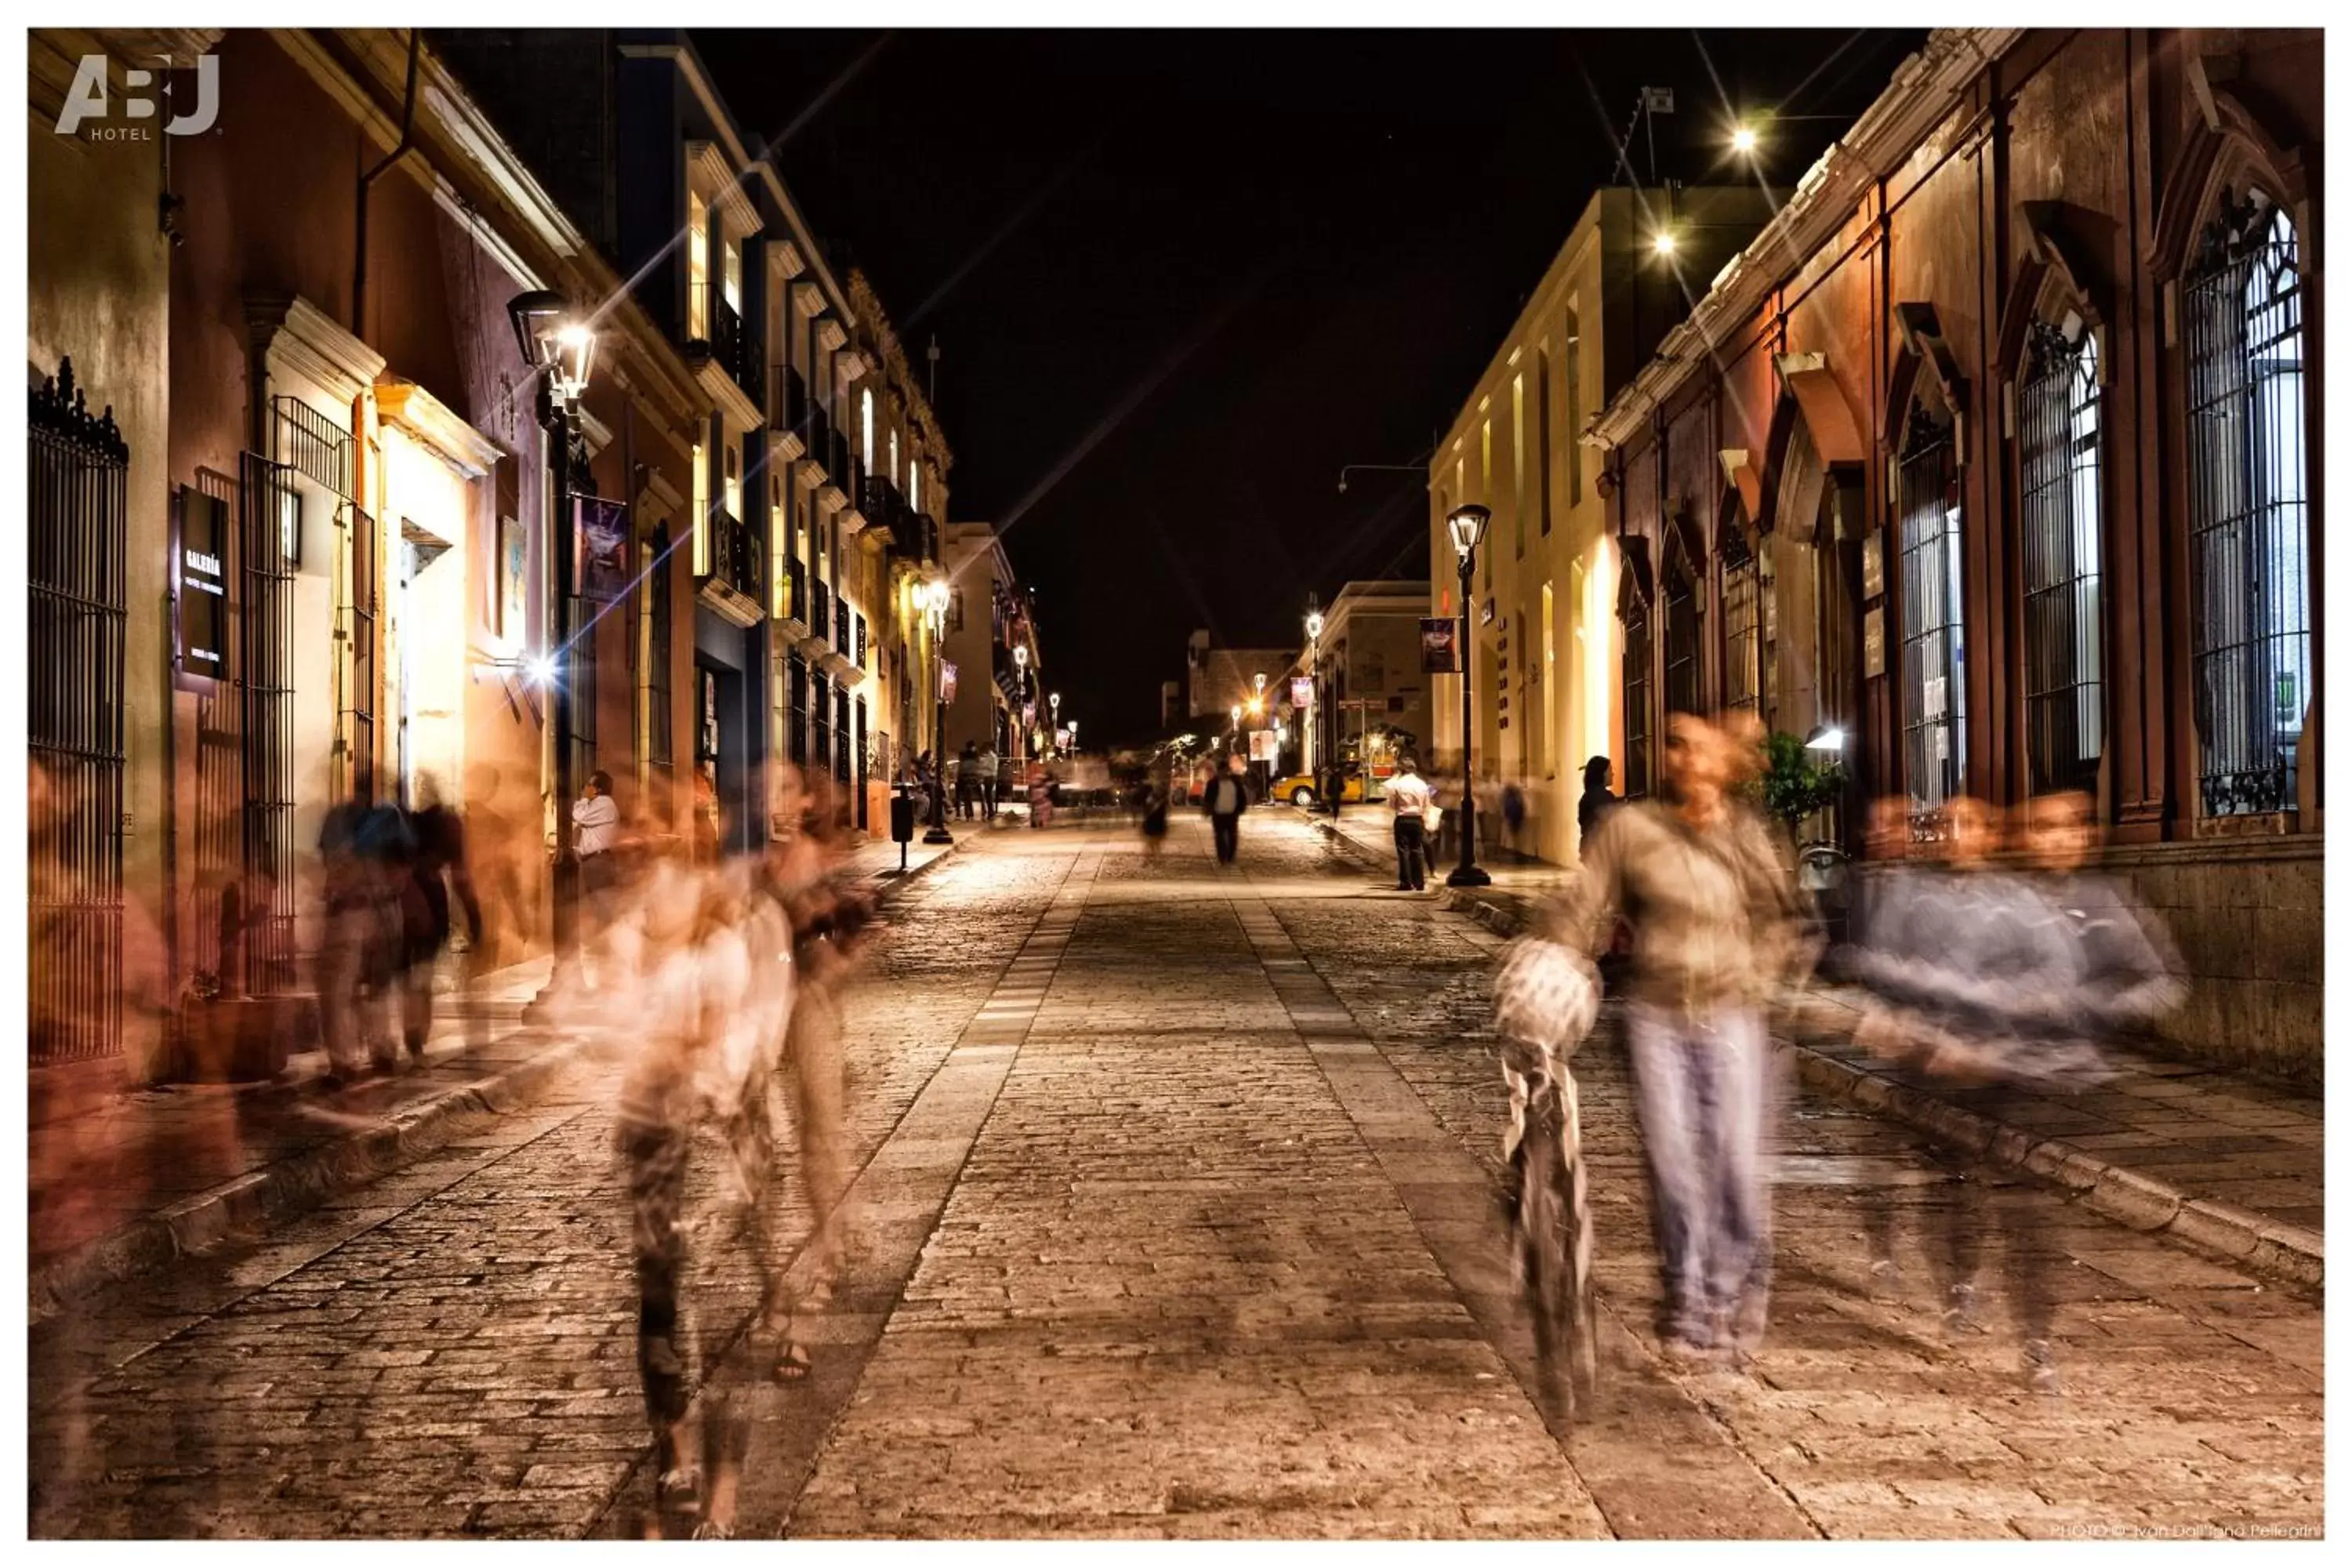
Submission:
[[[957,844],[908,867],[903,877],[896,865],[889,867],[887,879],[875,875],[873,879],[882,884],[882,903],[887,905],[903,886],[953,856]],[[49,1321],[94,1291],[153,1274],[181,1258],[207,1253],[240,1232],[292,1218],[355,1187],[383,1180],[437,1152],[475,1117],[510,1117],[529,1110],[586,1048],[588,1039],[574,1034],[506,1070],[407,1105],[381,1126],[334,1138],[259,1171],[245,1171],[120,1225],[31,1272],[26,1279],[31,1324]]]

